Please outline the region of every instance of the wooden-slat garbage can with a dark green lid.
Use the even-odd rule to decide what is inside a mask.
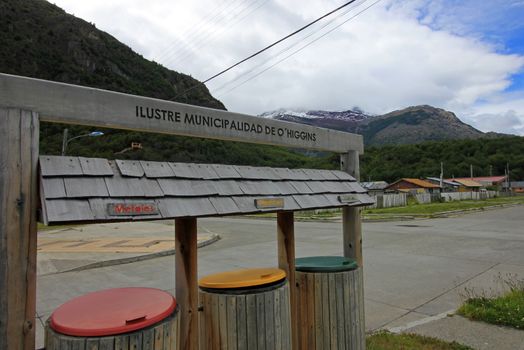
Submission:
[[[362,269],[349,258],[295,261],[299,349],[365,349]]]

